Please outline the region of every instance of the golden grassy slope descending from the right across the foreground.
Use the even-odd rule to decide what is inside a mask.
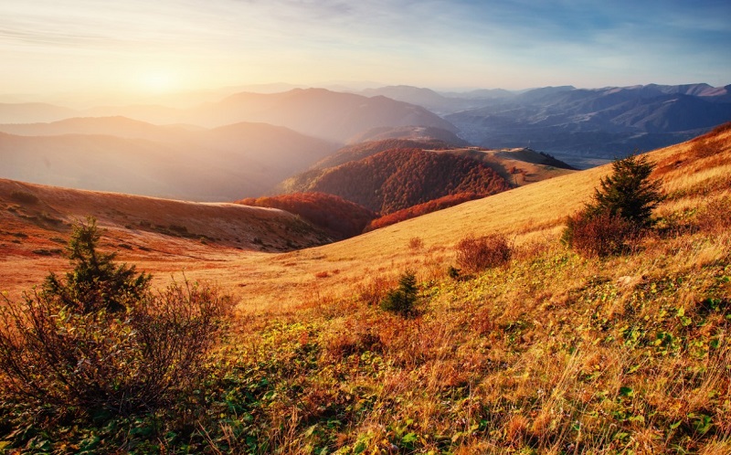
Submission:
[[[185,443],[728,453],[731,235],[703,214],[731,196],[731,132],[716,141],[700,158],[697,143],[651,153],[669,195],[657,211],[667,229],[623,257],[583,259],[557,241],[602,167],[320,248],[168,264],[239,286],[242,298],[238,328],[213,359],[223,371]],[[492,232],[514,238],[510,266],[445,276],[459,239]],[[408,246],[415,237],[420,249]],[[142,270],[154,264],[140,259]],[[367,303],[407,269],[420,281],[418,317]],[[65,438],[89,431],[112,439],[111,429]],[[151,440],[183,447],[168,437]]]

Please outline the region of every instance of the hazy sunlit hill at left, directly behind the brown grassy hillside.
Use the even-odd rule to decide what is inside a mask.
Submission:
[[[14,132],[14,134],[2,133]],[[26,134],[26,135],[18,135]],[[283,127],[212,130],[123,117],[0,125],[0,177],[198,201],[260,196],[336,148]]]

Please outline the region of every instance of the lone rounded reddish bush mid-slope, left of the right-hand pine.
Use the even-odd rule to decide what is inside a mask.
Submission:
[[[457,265],[469,272],[502,266],[513,256],[513,245],[502,234],[462,238],[456,249]]]

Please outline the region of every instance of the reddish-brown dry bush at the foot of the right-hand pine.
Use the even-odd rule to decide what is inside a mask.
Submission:
[[[623,217],[579,212],[567,218],[562,241],[582,256],[606,257],[629,250],[639,234],[639,228]]]

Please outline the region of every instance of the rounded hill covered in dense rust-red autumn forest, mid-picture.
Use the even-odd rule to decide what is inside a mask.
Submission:
[[[420,149],[392,149],[335,167],[322,175],[312,189],[387,215],[443,196],[490,196],[509,188],[493,169],[471,158]]]

